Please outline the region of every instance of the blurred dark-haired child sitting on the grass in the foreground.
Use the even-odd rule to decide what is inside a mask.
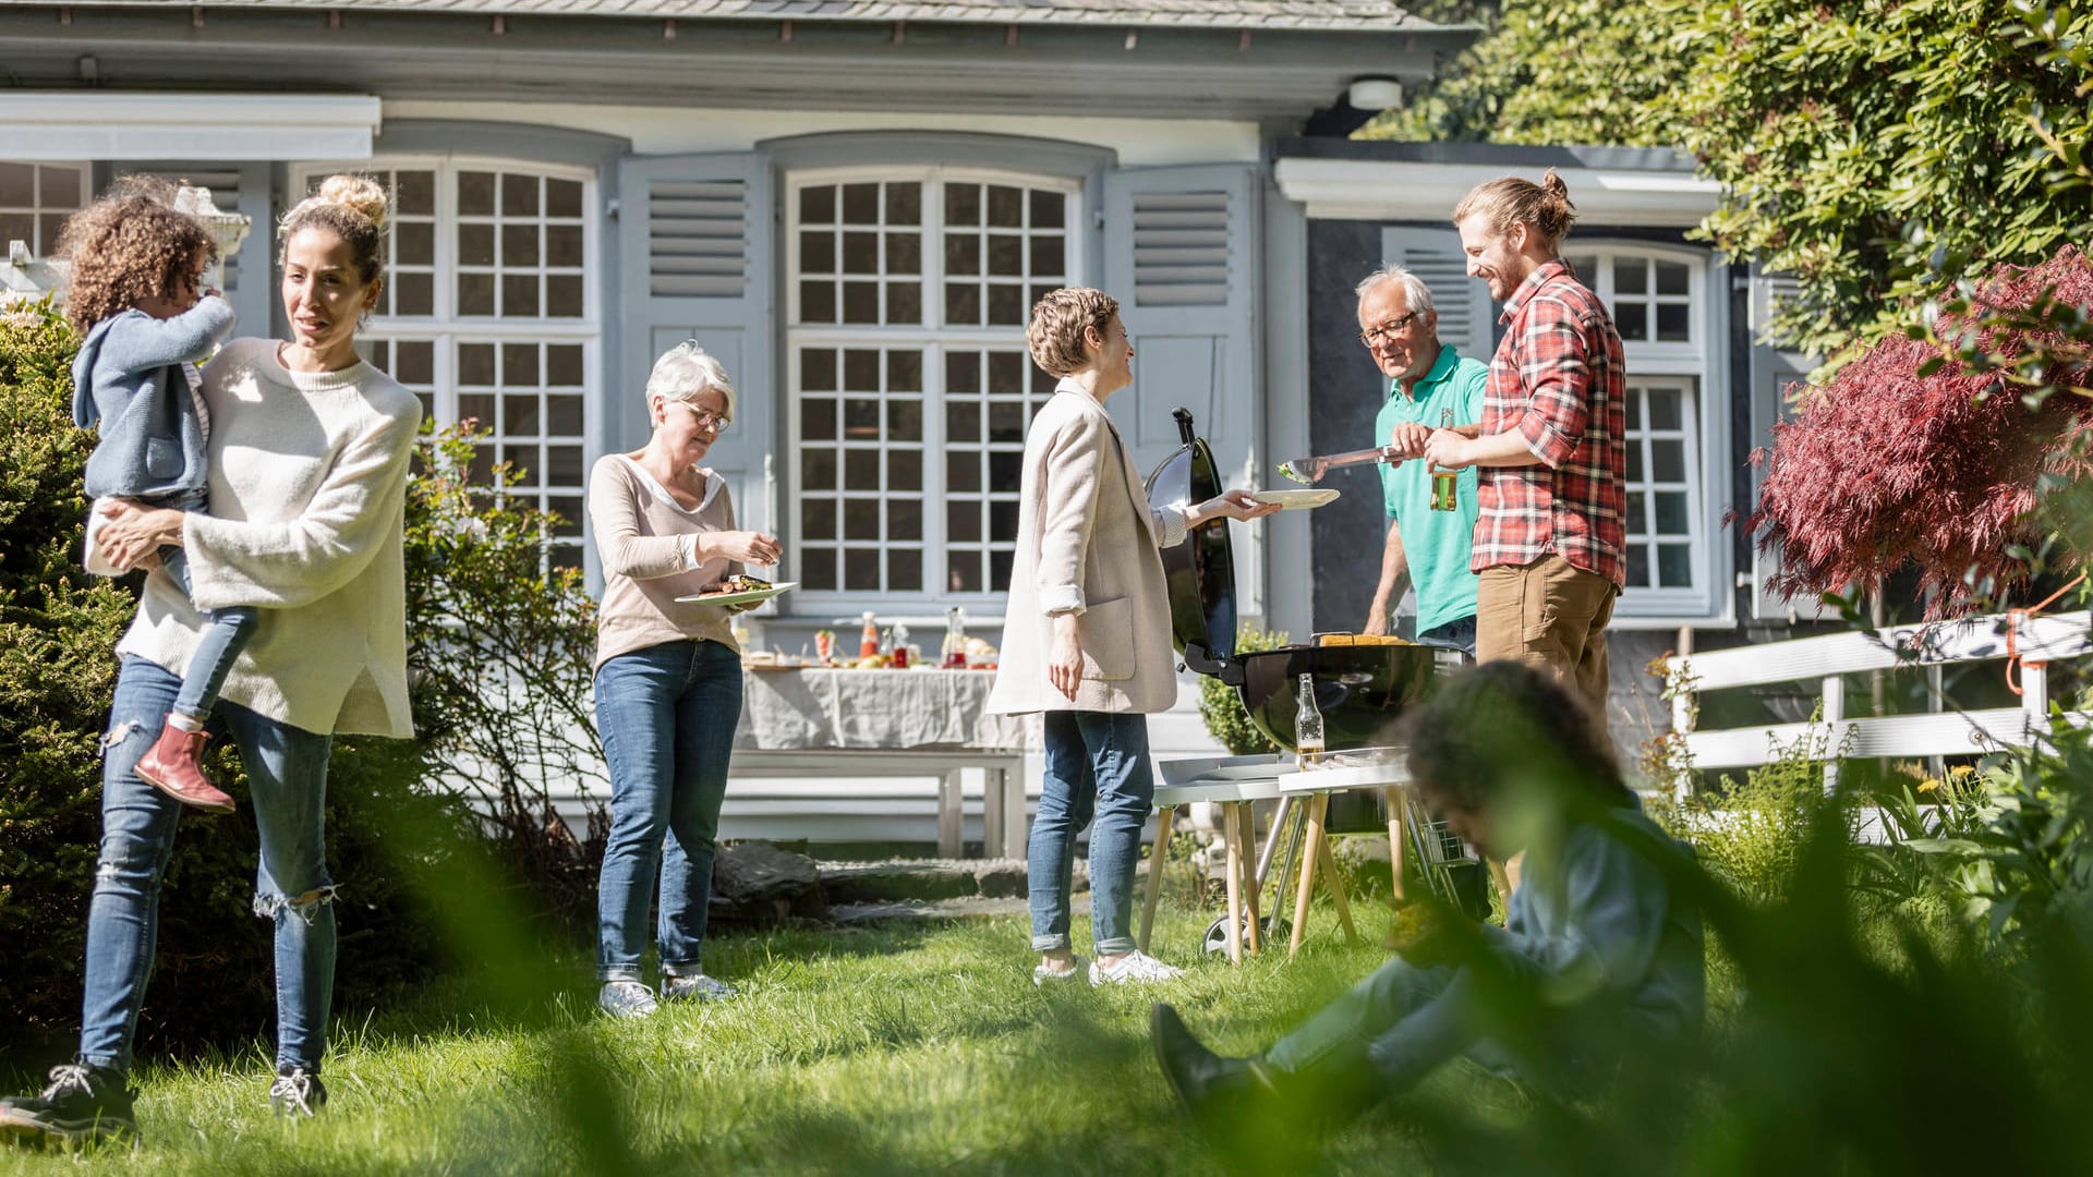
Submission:
[[[1268,1114],[1344,1123],[1463,1053],[1549,1095],[1589,1093],[1628,1051],[1702,1026],[1691,850],[1641,813],[1574,695],[1486,662],[1413,714],[1409,741],[1425,804],[1484,854],[1526,850],[1526,882],[1503,928],[1404,909],[1398,955],[1260,1056],[1218,1056],[1155,1005],[1164,1076],[1229,1156],[1268,1146]]]

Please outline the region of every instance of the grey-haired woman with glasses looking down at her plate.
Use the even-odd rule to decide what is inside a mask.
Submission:
[[[647,377],[647,446],[605,454],[588,478],[603,557],[597,729],[611,771],[597,1005],[617,1018],[657,1007],[640,974],[657,867],[661,999],[733,995],[705,976],[699,951],[741,723],[741,649],[728,620],[737,609],[678,597],[718,588],[743,565],[779,561],[777,536],[737,530],[726,480],[699,465],[735,419],[720,360],[695,339],[670,348]]]

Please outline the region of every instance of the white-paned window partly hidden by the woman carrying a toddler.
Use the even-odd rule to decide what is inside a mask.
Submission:
[[[548,561],[580,568],[584,484],[601,448],[586,410],[586,390],[601,385],[594,174],[494,159],[356,170],[393,197],[385,291],[358,346],[435,423],[490,429],[475,478],[509,463],[513,494],[561,517]],[[329,172],[301,168],[299,188]]]

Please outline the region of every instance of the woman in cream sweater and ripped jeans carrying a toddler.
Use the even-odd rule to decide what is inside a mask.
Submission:
[[[40,1095],[0,1100],[19,1137],[136,1135],[126,1074],[153,968],[161,871],[182,802],[134,775],[205,628],[201,609],[253,605],[262,622],[211,723],[239,746],[262,836],[255,913],[276,930],[276,1076],[270,1104],[324,1104],[320,1056],[335,980],[327,873],[327,762],[335,733],[412,735],[406,695],[402,521],[421,402],[356,356],[381,287],[385,193],[333,176],[285,214],[291,339],[237,339],[203,373],[209,513],[96,507],[90,568],[149,563],[182,545],[190,593],[147,578],[103,743],[103,846],[88,909],[80,1056]]]

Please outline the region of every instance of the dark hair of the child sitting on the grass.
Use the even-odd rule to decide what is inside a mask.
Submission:
[[[1434,808],[1478,810],[1528,783],[1566,804],[1628,804],[1603,716],[1553,674],[1484,662],[1406,723],[1411,779]]]

